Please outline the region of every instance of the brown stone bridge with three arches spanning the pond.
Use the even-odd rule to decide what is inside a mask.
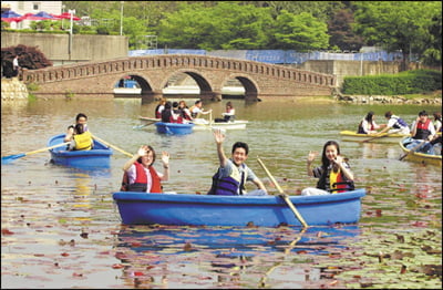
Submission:
[[[34,83],[33,94],[44,97],[114,97],[114,85],[131,76],[141,86],[141,97],[158,100],[168,80],[177,73],[193,77],[202,100],[222,100],[222,89],[233,79],[245,87],[245,100],[275,96],[331,95],[336,76],[255,61],[194,54],[132,56],[84,62],[41,70],[23,70],[25,84]]]

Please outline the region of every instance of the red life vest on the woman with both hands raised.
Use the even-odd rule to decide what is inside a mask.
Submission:
[[[120,190],[122,191],[142,191],[146,193],[147,190],[147,176],[145,172],[145,167],[138,163],[135,162],[135,180],[133,184],[130,184],[130,178],[127,176],[127,173],[124,172],[123,174],[123,180],[122,180],[122,187]],[[150,193],[155,193],[155,194],[161,194],[162,191],[162,184],[161,179],[157,175],[157,172],[153,166],[148,167],[151,178],[152,178],[152,186]]]

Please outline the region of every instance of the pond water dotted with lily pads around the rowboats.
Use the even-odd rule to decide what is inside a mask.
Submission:
[[[318,101],[234,103],[249,144],[247,164],[277,194],[257,156],[282,189],[299,194],[309,151],[339,141],[357,187],[365,187],[358,225],[300,228],[125,226],[112,199],[127,157],[114,151],[111,168],[85,172],[50,163],[49,152],[1,167],[2,288],[437,288],[441,287],[442,168],[399,160],[392,144],[342,142],[368,111],[377,122],[392,110],[412,123],[431,105],[350,105]],[[193,104],[189,100],[188,105]],[[226,100],[205,103],[219,117]],[[1,155],[32,152],[64,133],[78,113],[90,131],[135,153],[151,144],[171,154],[166,191],[206,193],[217,169],[209,131],[168,136],[135,130],[156,103],[137,99],[2,102]],[[316,164],[319,164],[319,159]],[[159,162],[156,167],[161,169]],[[248,189],[253,189],[248,185]],[[439,270],[440,269],[440,270]]]

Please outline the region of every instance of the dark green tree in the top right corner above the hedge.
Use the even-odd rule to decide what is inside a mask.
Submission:
[[[369,44],[388,51],[423,54],[431,38],[432,19],[442,14],[440,1],[356,1],[356,32]]]

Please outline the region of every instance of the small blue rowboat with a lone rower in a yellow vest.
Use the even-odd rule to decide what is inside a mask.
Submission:
[[[48,141],[48,146],[63,143],[65,134],[59,134]],[[90,151],[66,151],[65,146],[52,148],[51,162],[79,168],[106,168],[110,167],[112,149],[94,139],[94,147]]]

